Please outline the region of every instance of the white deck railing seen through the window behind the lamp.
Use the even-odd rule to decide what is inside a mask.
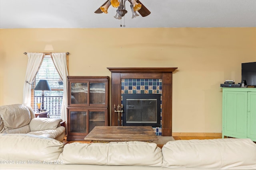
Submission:
[[[42,103],[42,96],[34,96],[34,111],[37,112],[37,103]],[[60,118],[62,96],[44,96],[44,109],[49,111],[50,118]]]

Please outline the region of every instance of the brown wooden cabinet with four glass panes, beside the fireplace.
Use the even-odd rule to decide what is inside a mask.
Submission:
[[[109,125],[108,86],[108,76],[68,76],[68,141],[83,141],[95,126]]]

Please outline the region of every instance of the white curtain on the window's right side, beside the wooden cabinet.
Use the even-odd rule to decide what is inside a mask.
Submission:
[[[67,76],[68,76],[68,66],[67,66],[67,56],[66,53],[52,53],[52,61],[60,74],[60,78],[63,82],[63,98],[60,118],[63,121],[67,120],[67,107],[68,107],[68,86],[67,86]]]

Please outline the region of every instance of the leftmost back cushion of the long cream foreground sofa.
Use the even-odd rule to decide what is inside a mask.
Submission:
[[[63,143],[29,134],[0,134],[0,160],[54,161],[63,151]]]

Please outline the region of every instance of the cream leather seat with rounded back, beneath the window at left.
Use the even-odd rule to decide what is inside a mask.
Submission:
[[[0,133],[27,133],[63,141],[66,128],[62,119],[35,117],[31,107],[23,104],[0,106]]]

